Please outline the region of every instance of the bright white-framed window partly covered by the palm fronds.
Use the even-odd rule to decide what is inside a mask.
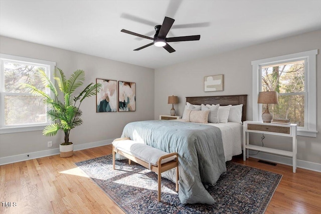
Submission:
[[[48,125],[47,107],[22,84],[46,90],[39,71],[51,76],[55,63],[11,55],[0,55],[1,125],[0,133],[42,130]],[[50,93],[46,90],[46,93]]]

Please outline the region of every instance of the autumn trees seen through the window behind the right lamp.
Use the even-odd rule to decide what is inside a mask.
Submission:
[[[261,91],[276,91],[279,104],[270,104],[273,118],[290,119],[304,127],[305,61],[261,66]],[[265,111],[262,105],[262,112]]]

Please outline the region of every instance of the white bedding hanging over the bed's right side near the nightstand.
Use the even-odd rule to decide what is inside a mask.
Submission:
[[[184,119],[177,121],[186,122]],[[243,125],[236,122],[227,123],[204,123],[205,125],[216,126],[221,130],[225,161],[232,160],[234,155],[242,154]]]

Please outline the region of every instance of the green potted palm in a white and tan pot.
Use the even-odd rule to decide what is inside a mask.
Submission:
[[[54,136],[59,130],[65,133],[64,142],[60,144],[60,156],[70,157],[73,155],[73,143],[69,141],[70,131],[76,126],[80,126],[83,120],[80,118],[82,111],[79,109],[82,101],[87,98],[96,95],[102,85],[100,83],[90,83],[79,94],[76,93],[76,89],[81,87],[85,81],[85,72],[83,70],[76,70],[67,80],[64,72],[56,68],[54,72],[54,79],[56,80],[59,90],[45,72],[40,71],[42,82],[53,93],[53,97],[46,94],[46,92],[36,88],[30,84],[24,84],[28,87],[32,94],[35,96],[44,97],[44,102],[47,104],[47,116],[54,123],[46,126],[43,130],[43,134],[46,136]],[[59,97],[62,97],[59,99]]]

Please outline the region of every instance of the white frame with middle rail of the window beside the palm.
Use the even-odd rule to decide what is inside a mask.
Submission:
[[[5,133],[15,133],[15,132],[25,132],[25,131],[37,131],[43,130],[51,121],[46,123],[29,123],[29,124],[17,124],[17,125],[5,125],[5,96],[19,96],[19,95],[31,95],[30,93],[12,93],[5,92],[5,78],[4,78],[4,61],[18,62],[22,64],[30,64],[46,67],[46,74],[50,77],[50,80],[53,81],[53,71],[55,69],[56,63],[45,60],[32,59],[27,57],[19,57],[7,54],[0,54],[0,134]],[[46,89],[47,90],[47,89]],[[47,93],[52,96],[50,90]]]

